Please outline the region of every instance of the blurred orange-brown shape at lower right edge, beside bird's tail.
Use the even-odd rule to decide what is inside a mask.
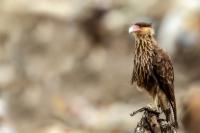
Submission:
[[[187,133],[200,132],[200,90],[199,84],[191,86],[183,100],[182,124]]]

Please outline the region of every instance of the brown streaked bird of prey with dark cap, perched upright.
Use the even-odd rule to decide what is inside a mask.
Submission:
[[[146,90],[153,98],[155,109],[163,112],[166,121],[178,128],[174,70],[169,55],[156,41],[151,23],[136,22],[128,31],[135,40],[131,83]]]

